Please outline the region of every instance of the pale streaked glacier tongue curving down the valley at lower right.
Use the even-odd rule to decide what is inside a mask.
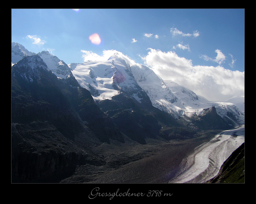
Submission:
[[[216,176],[221,165],[245,141],[244,125],[222,131],[195,149],[187,158],[187,168],[169,183],[204,183]]]

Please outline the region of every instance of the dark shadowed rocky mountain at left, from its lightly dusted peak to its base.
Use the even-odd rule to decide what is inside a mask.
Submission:
[[[58,79],[38,55],[12,67],[11,97],[13,182],[58,182],[76,165],[100,165],[88,154],[100,140],[123,141],[89,91]]]

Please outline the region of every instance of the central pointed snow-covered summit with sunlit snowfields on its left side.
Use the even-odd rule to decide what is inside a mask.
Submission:
[[[144,90],[131,73],[130,65],[127,66],[117,53],[105,61],[71,63],[69,67],[81,87],[88,89],[95,100],[111,100],[120,93],[139,103],[147,100],[143,97]]]

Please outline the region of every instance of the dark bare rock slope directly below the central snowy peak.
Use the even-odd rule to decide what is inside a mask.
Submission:
[[[98,106],[111,117],[121,132],[141,144],[145,144],[145,138],[168,138],[165,132],[161,132],[163,125],[169,128],[181,126],[172,116],[153,107],[146,100],[145,104],[142,106],[125,94],[98,102]]]

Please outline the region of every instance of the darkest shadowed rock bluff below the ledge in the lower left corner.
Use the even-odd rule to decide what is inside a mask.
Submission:
[[[49,122],[12,124],[14,183],[58,182],[87,157]]]

